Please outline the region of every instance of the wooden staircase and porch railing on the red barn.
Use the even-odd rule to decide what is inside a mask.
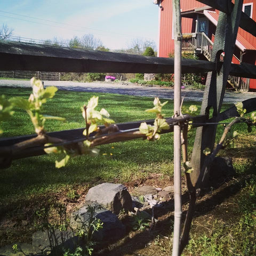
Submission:
[[[183,34],[181,51],[203,54],[207,60],[211,59],[213,42],[203,32]],[[223,61],[224,55],[221,55],[220,61]],[[231,76],[228,77],[228,83],[236,91],[249,91],[250,78]]]

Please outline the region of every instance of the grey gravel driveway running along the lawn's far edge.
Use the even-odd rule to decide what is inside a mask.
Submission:
[[[77,92],[103,92],[103,93],[118,93],[134,96],[145,97],[159,97],[165,99],[173,99],[173,89],[166,89],[163,87],[149,87],[140,86],[132,83],[82,83],[82,82],[67,82],[67,81],[44,81],[45,86],[57,86],[60,90],[70,90]],[[1,86],[10,87],[30,87],[29,81],[21,80],[1,80],[0,79],[0,92]],[[202,101],[202,90],[182,90],[182,97],[186,101]],[[239,101],[247,100],[256,97],[256,93],[253,92],[234,92],[227,91],[225,93],[224,102],[236,103]]]

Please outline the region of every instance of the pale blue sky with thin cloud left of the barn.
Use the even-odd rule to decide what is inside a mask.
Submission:
[[[158,6],[153,0],[1,0],[3,23],[15,36],[70,39],[93,34],[109,49],[125,49],[132,38],[157,44]]]

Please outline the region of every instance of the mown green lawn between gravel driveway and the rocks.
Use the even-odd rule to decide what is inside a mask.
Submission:
[[[30,89],[1,88],[6,98],[21,96],[28,98]],[[132,97],[118,94],[94,93],[99,96],[99,108],[106,108],[116,123],[151,119],[145,109],[153,106],[152,98]],[[49,132],[84,127],[81,106],[94,95],[85,92],[59,91],[48,100],[44,113],[61,116],[66,123],[49,121],[45,129]],[[189,106],[193,102],[187,102]],[[172,101],[166,105],[164,113],[173,114]],[[4,136],[11,137],[33,134],[33,125],[29,116],[21,109],[14,109],[15,114],[8,122],[1,124]],[[189,143],[190,151],[193,141]],[[114,148],[112,148],[114,147]],[[100,155],[95,158],[79,156],[71,159],[67,166],[55,169],[55,156],[43,155],[13,161],[9,169],[1,172],[0,200],[30,197],[49,191],[76,185],[94,186],[101,182],[125,182],[146,178],[150,173],[161,173],[163,179],[173,173],[173,135],[163,134],[155,142],[133,140],[100,146]],[[113,154],[112,156],[110,155]],[[102,155],[107,154],[107,155]]]

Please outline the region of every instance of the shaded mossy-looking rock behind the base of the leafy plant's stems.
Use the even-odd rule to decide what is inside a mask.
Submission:
[[[52,249],[51,246],[61,246],[73,250],[75,241],[77,241],[77,238],[71,230],[60,231],[56,229],[50,234],[50,238],[47,230],[37,231],[32,235],[32,245],[41,251],[50,251]]]

